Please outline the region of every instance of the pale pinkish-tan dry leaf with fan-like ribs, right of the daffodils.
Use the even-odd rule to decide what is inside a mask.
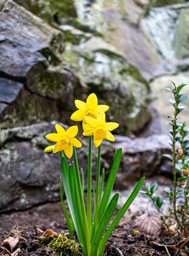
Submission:
[[[143,214],[136,218],[135,225],[140,231],[156,237],[160,232],[162,221],[156,213],[152,215]]]

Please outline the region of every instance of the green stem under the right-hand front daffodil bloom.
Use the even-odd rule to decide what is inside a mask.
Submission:
[[[101,144],[98,147],[98,159],[97,159],[97,169],[96,169],[96,211],[95,211],[95,230],[98,227],[98,208],[99,208],[99,187],[100,187],[100,153]]]

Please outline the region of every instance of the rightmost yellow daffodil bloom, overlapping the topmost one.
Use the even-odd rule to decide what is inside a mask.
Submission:
[[[108,139],[109,141],[115,141],[115,137],[110,131],[116,129],[119,124],[116,122],[106,122],[106,115],[101,112],[96,119],[93,117],[85,117],[85,122],[90,126],[84,132],[84,136],[94,136],[94,143],[96,147],[99,147],[102,140]]]

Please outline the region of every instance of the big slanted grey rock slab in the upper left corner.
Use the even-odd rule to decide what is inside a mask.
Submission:
[[[64,47],[60,31],[11,0],[0,13],[0,40],[0,72],[14,78],[26,77],[39,62],[57,62]]]

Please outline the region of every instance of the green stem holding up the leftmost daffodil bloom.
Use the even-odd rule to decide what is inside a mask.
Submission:
[[[84,228],[85,228],[85,235],[86,235],[86,240],[87,240],[87,250],[88,250],[88,256],[90,256],[91,253],[91,239],[89,236],[89,228],[88,228],[88,223],[87,223],[87,215],[85,211],[85,204],[83,200],[83,193],[82,193],[82,184],[80,180],[80,171],[79,171],[79,166],[78,166],[78,158],[76,154],[76,148],[73,147],[73,153],[74,153],[74,164],[76,167],[76,177],[77,177],[77,183],[78,183],[78,190],[79,190],[79,196],[81,200],[81,207],[82,207],[82,213],[83,213],[83,220],[84,220]]]

